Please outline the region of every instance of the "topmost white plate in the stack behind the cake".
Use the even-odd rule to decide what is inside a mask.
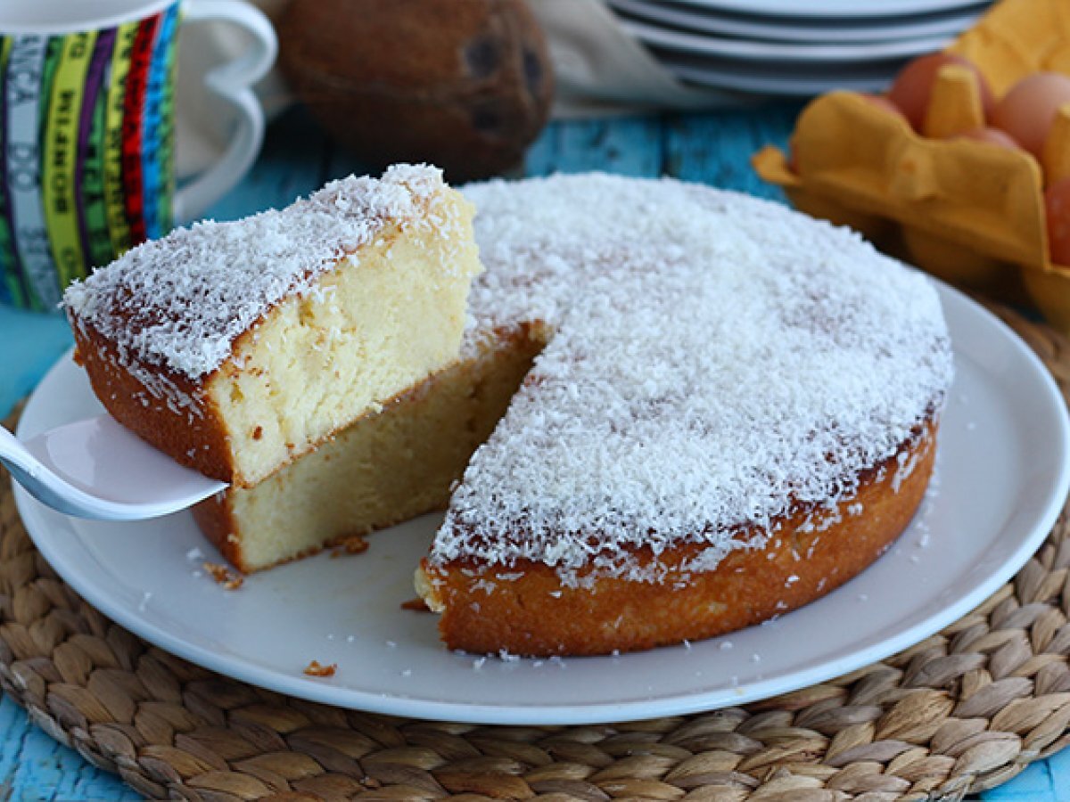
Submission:
[[[641,20],[699,34],[810,44],[953,36],[973,25],[983,11],[966,9],[949,14],[891,19],[791,19],[751,17],[661,0],[609,0],[609,4],[614,11]]]

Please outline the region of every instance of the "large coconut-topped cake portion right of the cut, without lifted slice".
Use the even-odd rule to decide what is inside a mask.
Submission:
[[[672,180],[464,194],[487,268],[464,348],[546,344],[417,571],[450,648],[708,637],[828,592],[902,533],[952,374],[927,279]]]

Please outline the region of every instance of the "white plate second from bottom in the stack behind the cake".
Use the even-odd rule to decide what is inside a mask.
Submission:
[[[799,44],[797,42],[750,42],[704,33],[686,33],[635,19],[622,18],[621,27],[645,45],[739,61],[778,61],[781,62],[784,70],[791,70],[796,63],[831,64],[905,59],[941,50],[951,41],[951,36],[943,35],[891,42]]]

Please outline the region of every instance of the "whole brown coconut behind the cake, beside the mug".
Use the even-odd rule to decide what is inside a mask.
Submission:
[[[550,59],[523,0],[292,0],[279,34],[299,97],[373,167],[486,178],[546,123]]]

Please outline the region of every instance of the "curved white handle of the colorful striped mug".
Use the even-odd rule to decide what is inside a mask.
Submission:
[[[190,220],[231,189],[256,159],[264,137],[264,112],[253,92],[275,62],[278,38],[259,9],[240,0],[186,0],[184,21],[223,20],[253,34],[254,44],[242,58],[221,64],[204,76],[208,88],[239,112],[236,129],[218,161],[174,194],[174,218]]]

